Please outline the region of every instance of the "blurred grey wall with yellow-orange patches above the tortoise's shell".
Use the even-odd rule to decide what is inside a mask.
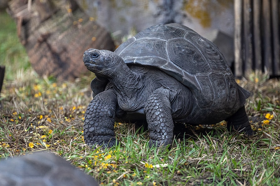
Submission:
[[[97,23],[121,35],[132,28],[138,32],[156,24],[180,23],[202,36],[212,29],[233,36],[233,0],[84,0],[77,3]]]

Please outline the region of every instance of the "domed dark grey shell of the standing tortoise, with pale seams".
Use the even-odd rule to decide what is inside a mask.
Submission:
[[[200,109],[232,113],[250,95],[236,84],[217,46],[181,24],[147,28],[114,53],[126,64],[157,67],[176,78],[193,92]],[[243,99],[238,99],[238,89],[245,94]]]

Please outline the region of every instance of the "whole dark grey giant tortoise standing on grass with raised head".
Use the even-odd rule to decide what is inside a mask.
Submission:
[[[227,121],[252,135],[245,113],[250,92],[240,87],[219,49],[181,24],[155,25],[114,52],[88,49],[83,61],[96,74],[84,121],[90,146],[116,144],[114,121],[148,123],[150,144],[172,143],[174,123]]]

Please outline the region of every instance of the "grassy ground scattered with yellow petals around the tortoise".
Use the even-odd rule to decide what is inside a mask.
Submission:
[[[256,134],[229,134],[221,122],[189,128],[169,148],[149,148],[148,132],[134,124],[115,124],[119,145],[88,148],[82,125],[91,100],[91,78],[57,82],[38,77],[5,14],[0,28],[0,158],[49,150],[100,185],[278,185],[280,184],[280,81],[254,73],[238,83],[253,92],[246,111]],[[13,52],[11,52],[13,51]],[[273,117],[272,117],[273,115]]]

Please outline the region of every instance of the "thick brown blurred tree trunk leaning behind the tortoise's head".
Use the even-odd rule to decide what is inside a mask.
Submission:
[[[114,50],[110,34],[74,0],[12,0],[9,13],[30,63],[41,76],[72,80],[87,72],[82,56],[88,48]]]

